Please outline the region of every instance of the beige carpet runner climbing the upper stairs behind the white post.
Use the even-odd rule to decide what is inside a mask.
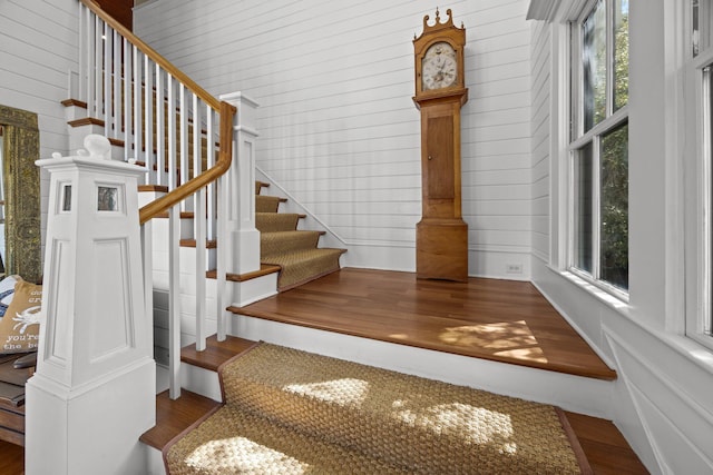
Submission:
[[[260,260],[281,267],[277,288],[289,290],[339,270],[339,258],[345,249],[319,248],[322,232],[297,230],[301,216],[279,212],[283,199],[260,195],[263,186],[265,184],[256,184],[255,196],[255,227],[261,232]]]

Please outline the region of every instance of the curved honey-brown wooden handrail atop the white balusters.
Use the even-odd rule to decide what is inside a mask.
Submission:
[[[152,61],[159,65],[167,73],[174,77],[177,81],[182,82],[188,90],[191,90],[196,97],[203,100],[207,106],[218,111],[219,122],[219,146],[218,146],[218,159],[215,165],[197,177],[186,181],[185,184],[170,190],[167,195],[149,202],[139,209],[139,222],[144,225],[152,218],[166,211],[172,206],[180,202],[191,195],[195,194],[201,188],[207,186],[209,182],[215,181],[221,175],[225,174],[231,168],[233,161],[233,118],[235,117],[236,109],[234,106],[219,101],[205,89],[198,86],[193,79],[186,76],[183,71],[176,68],[170,61],[157,53],[152,47],[141,41],[130,30],[115,20],[110,14],[99,7],[92,0],[79,0],[89,10],[91,10],[97,17],[101,18],[109,27],[121,34],[131,44],[138,48],[144,55],[149,57]]]

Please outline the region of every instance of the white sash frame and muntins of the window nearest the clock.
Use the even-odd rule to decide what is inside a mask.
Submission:
[[[606,1],[606,18],[607,23],[609,22],[612,12],[609,0]],[[572,273],[573,275],[586,280],[587,283],[596,286],[600,290],[604,290],[606,294],[616,297],[617,299],[628,303],[628,291],[615,287],[614,285],[600,280],[599,276],[599,266],[600,266],[600,237],[599,237],[599,227],[600,227],[600,182],[599,182],[599,171],[600,171],[600,161],[599,161],[599,141],[603,136],[606,133],[616,130],[621,125],[628,121],[628,105],[623,106],[615,112],[612,112],[613,108],[613,88],[607,87],[606,90],[606,117],[602,119],[598,123],[594,125],[589,130],[584,131],[584,108],[583,106],[583,65],[582,65],[582,24],[584,20],[592,12],[592,9],[596,4],[596,0],[587,1],[585,7],[582,9],[579,16],[575,21],[572,21],[569,24],[570,30],[570,57],[569,65],[570,70],[573,71],[573,78],[570,81],[570,93],[567,98],[567,102],[569,105],[569,117],[572,130],[570,137],[568,140],[567,147],[567,207],[566,207],[566,219],[567,219],[567,228],[565,230],[567,236],[567,253],[565,257],[565,266],[566,270]],[[609,26],[607,24],[607,30]],[[613,44],[609,40],[611,31],[607,31],[607,83],[612,85],[613,79],[613,68],[611,67],[609,59],[613,56]],[[576,98],[576,99],[575,99]],[[576,135],[575,136],[575,128]],[[575,170],[574,170],[574,161],[575,154],[578,149],[583,148],[587,144],[592,144],[593,146],[593,256],[592,256],[592,274],[575,267],[575,190],[574,190],[574,180],[575,180]]]

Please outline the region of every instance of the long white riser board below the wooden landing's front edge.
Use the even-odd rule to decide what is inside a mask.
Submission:
[[[235,315],[232,335],[611,419],[614,382]]]

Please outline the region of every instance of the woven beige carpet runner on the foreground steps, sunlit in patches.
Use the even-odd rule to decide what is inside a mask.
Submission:
[[[172,475],[592,473],[553,406],[265,343],[219,373]]]

